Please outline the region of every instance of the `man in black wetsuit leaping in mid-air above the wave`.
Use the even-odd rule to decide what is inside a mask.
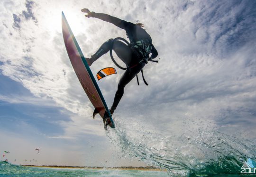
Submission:
[[[85,17],[99,18],[124,29],[130,41],[130,45],[126,45],[120,41],[114,41],[112,43],[113,39],[109,39],[101,45],[98,51],[96,51],[90,59],[86,58],[88,65],[91,66],[94,61],[110,51],[110,48],[112,47],[112,50],[116,52],[117,56],[127,66],[125,73],[119,81],[118,90],[110,108],[110,113],[112,115],[124,94],[125,86],[142,70],[147,61],[155,59],[158,53],[152,44],[150,35],[142,28],[144,27],[143,24],[133,24],[108,14],[91,12],[88,8],[83,8],[81,11],[87,13]],[[150,53],[152,53],[152,55],[149,57]]]

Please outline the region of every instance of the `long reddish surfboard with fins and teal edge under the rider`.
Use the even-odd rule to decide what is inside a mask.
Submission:
[[[67,22],[67,19],[62,12],[62,34],[64,38],[64,43],[68,57],[71,61],[75,74],[82,85],[84,92],[87,94],[89,100],[91,101],[93,107],[95,108],[93,112],[94,116],[99,113],[104,122],[104,127],[107,129],[105,124],[105,119],[110,118],[112,125],[110,127],[114,128],[114,122],[111,117],[110,111],[101,93],[101,90],[92,75],[91,69],[84,58],[81,48],[76,41],[73,32]]]

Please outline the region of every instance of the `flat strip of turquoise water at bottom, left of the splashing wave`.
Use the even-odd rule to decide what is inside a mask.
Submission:
[[[166,171],[37,168],[0,162],[0,177],[168,177]]]

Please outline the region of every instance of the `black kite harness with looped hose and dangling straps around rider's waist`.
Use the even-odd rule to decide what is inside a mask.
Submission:
[[[131,67],[128,67],[128,68],[121,67],[121,66],[115,61],[115,59],[114,59],[114,57],[113,57],[113,55],[112,55],[113,44],[114,44],[114,42],[117,41],[117,40],[120,40],[120,41],[125,42],[128,46],[131,46],[131,44],[130,44],[127,40],[125,40],[124,38],[122,38],[122,37],[117,37],[117,38],[113,39],[113,41],[112,41],[112,43],[111,43],[111,47],[110,47],[110,58],[111,58],[112,61],[115,63],[115,65],[116,65],[117,67],[119,67],[120,69],[126,70],[126,69],[131,68],[131,67],[136,67],[140,62],[145,62],[146,64],[147,64],[147,61],[152,61],[152,62],[158,63],[157,60],[147,60],[147,59],[144,57],[144,58],[142,58],[142,59],[141,59],[136,65],[134,65],[134,66],[131,66]],[[143,50],[142,48],[140,48],[140,49]],[[135,48],[134,48],[133,51],[139,52],[139,51],[137,51]],[[143,50],[143,51],[145,51],[145,50]],[[146,51],[145,51],[145,52],[146,52]],[[150,52],[149,52],[149,53],[150,53]],[[147,58],[148,58],[148,54],[147,54]],[[142,69],[141,69],[141,74],[142,74],[142,78],[143,78],[144,83],[145,83],[146,85],[148,85],[148,84],[146,83],[145,78],[144,78],[143,70],[142,70]],[[138,83],[138,85],[139,85],[139,82],[138,82],[138,75],[136,75],[136,78],[137,78],[137,83]]]

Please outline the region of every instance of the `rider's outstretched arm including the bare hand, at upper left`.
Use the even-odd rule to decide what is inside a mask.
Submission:
[[[81,11],[84,12],[84,13],[87,13],[87,15],[85,15],[85,17],[99,18],[103,21],[106,21],[106,22],[109,22],[109,23],[112,23],[112,24],[118,26],[119,28],[122,28],[122,29],[125,28],[126,21],[121,20],[117,17],[113,17],[113,16],[110,16],[108,14],[103,14],[103,13],[91,12],[88,8],[83,8]]]

